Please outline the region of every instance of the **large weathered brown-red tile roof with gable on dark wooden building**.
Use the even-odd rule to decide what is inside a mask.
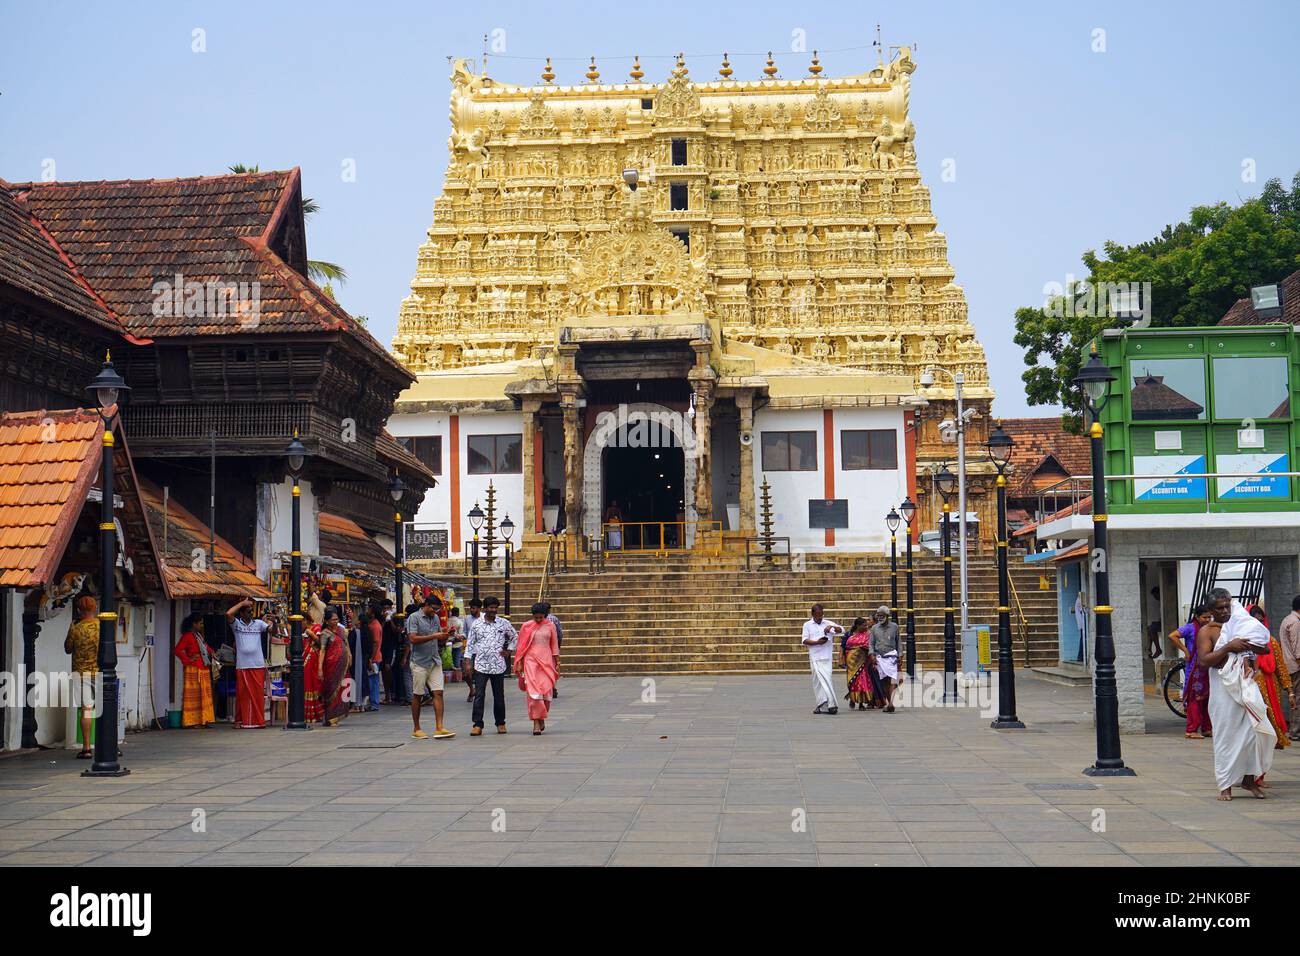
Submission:
[[[270,248],[300,189],[298,169],[188,179],[9,183],[127,332],[140,337],[344,332],[403,377],[378,341]],[[216,286],[202,313],[164,294]],[[159,291],[156,291],[156,289]],[[254,302],[256,304],[254,304]],[[179,304],[179,308],[177,306]]]

